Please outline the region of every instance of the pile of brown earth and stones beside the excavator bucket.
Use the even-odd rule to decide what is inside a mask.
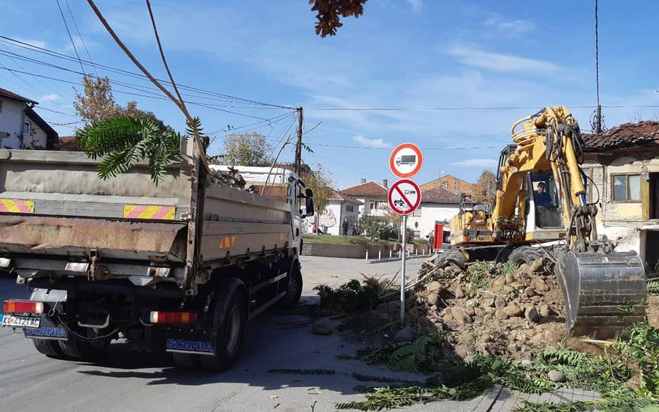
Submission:
[[[397,323],[400,306],[393,301],[347,319],[344,329],[380,333],[385,341],[447,330],[452,350],[463,358],[474,352],[533,358],[566,336],[562,292],[543,260],[519,268],[489,262],[453,266],[437,261],[424,262],[406,301],[406,321],[399,334],[386,330],[386,325],[401,327]]]

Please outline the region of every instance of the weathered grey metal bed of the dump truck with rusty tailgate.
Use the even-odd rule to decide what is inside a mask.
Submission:
[[[192,143],[182,141],[181,150],[188,157],[170,165],[159,185],[146,163],[101,180],[99,160],[84,152],[0,150],[0,264],[25,277],[86,273],[182,284],[186,268],[233,264],[286,246],[291,206],[256,193],[203,187],[195,219]],[[169,269],[155,275],[153,267]],[[96,278],[94,270],[102,273]]]

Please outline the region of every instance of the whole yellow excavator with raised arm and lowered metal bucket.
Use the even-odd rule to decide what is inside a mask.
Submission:
[[[531,263],[551,258],[571,336],[611,339],[645,319],[645,267],[636,252],[598,238],[597,201],[586,200],[583,142],[565,106],[513,124],[501,152],[494,205],[463,195],[451,220],[452,258]],[[545,246],[540,246],[545,244]],[[549,255],[549,256],[547,256]]]

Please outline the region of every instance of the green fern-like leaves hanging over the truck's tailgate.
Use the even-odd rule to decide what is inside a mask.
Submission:
[[[170,161],[180,155],[181,135],[152,119],[114,117],[78,130],[76,143],[92,159],[103,158],[97,166],[100,179],[110,179],[148,160],[151,179],[158,184]]]

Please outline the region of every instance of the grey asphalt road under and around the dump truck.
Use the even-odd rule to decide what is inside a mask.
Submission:
[[[415,273],[420,263],[412,260],[410,272]],[[391,276],[399,267],[397,262],[365,264],[310,257],[303,258],[302,265],[306,297],[313,295],[312,288],[319,283],[336,286],[360,272]],[[0,300],[9,297],[27,297],[27,290],[2,276]],[[113,343],[97,363],[54,360],[36,352],[22,334],[0,328],[0,411],[333,411],[336,402],[362,399],[353,388],[364,382],[352,378],[352,372],[401,375],[338,360],[337,355],[354,353],[358,346],[336,334],[314,335],[310,326],[285,328],[292,320],[266,315],[251,323],[240,361],[221,374],[181,371],[166,355],[131,353],[122,343]],[[336,374],[270,373],[274,368],[332,369]],[[407,410],[474,411],[479,405],[483,407],[483,398]]]

